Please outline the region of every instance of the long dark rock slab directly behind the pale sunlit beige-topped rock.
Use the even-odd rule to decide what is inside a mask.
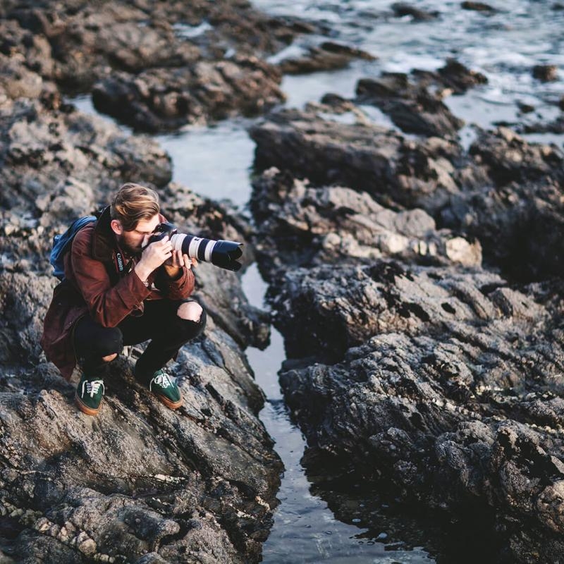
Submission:
[[[378,125],[343,124],[298,111],[272,114],[250,135],[259,168],[287,168],[316,184],[366,190],[381,203],[427,209],[432,201],[430,207],[440,207],[459,190],[451,161],[461,149],[438,137],[417,143]]]

